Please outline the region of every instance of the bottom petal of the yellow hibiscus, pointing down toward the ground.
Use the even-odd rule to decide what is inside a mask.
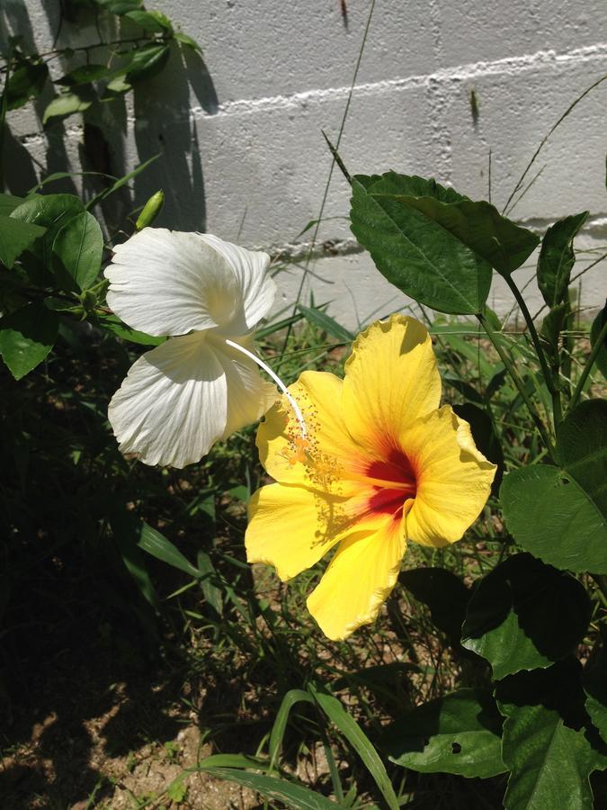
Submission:
[[[403,522],[391,517],[376,520],[374,531],[344,537],[307,603],[328,638],[345,638],[377,617],[405,551]]]

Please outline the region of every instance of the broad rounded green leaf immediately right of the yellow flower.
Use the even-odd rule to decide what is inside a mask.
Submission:
[[[573,476],[551,464],[522,467],[504,477],[500,499],[526,551],[557,568],[607,573],[607,527]]]

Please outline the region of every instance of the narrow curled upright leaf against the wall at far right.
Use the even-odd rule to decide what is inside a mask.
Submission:
[[[565,300],[571,268],[576,257],[573,240],[584,225],[589,211],[558,220],[546,231],[541,240],[538,259],[538,286],[549,307]]]

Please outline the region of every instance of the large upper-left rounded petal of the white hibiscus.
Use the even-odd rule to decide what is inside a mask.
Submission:
[[[198,233],[144,228],[114,248],[107,301],[129,327],[185,335],[226,327],[242,335],[244,299],[226,258]]]

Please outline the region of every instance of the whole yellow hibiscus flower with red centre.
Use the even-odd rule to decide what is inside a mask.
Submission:
[[[245,545],[282,581],[337,548],[308,610],[329,638],[373,621],[409,540],[443,546],[478,517],[495,475],[468,422],[439,408],[430,336],[413,318],[377,321],[353,343],[344,380],[304,372],[257,432],[276,483],[254,493]]]

